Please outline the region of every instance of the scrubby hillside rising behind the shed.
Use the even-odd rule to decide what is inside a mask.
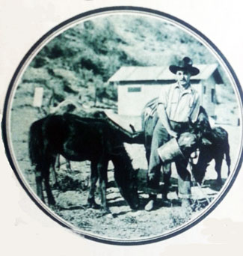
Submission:
[[[120,67],[164,66],[185,55],[195,64],[216,62],[202,43],[170,23],[147,16],[99,17],[67,29],[40,49],[18,89],[33,97],[35,87],[44,87],[44,107],[52,95],[61,102],[78,94],[87,106],[115,106],[117,91],[107,80]]]

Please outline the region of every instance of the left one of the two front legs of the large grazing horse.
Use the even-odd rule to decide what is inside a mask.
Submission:
[[[90,164],[90,168],[91,168],[91,173],[90,173],[90,191],[89,191],[89,195],[87,198],[87,207],[90,208],[98,208],[99,205],[96,204],[96,201],[94,199],[94,192],[96,189],[96,182],[98,180],[98,171],[97,171],[97,163],[96,162],[91,162]]]

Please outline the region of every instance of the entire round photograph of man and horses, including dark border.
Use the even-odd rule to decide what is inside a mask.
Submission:
[[[224,55],[166,13],[74,17],[25,55],[4,144],[28,195],[92,240],[144,244],[186,231],[242,163],[242,91]]]

